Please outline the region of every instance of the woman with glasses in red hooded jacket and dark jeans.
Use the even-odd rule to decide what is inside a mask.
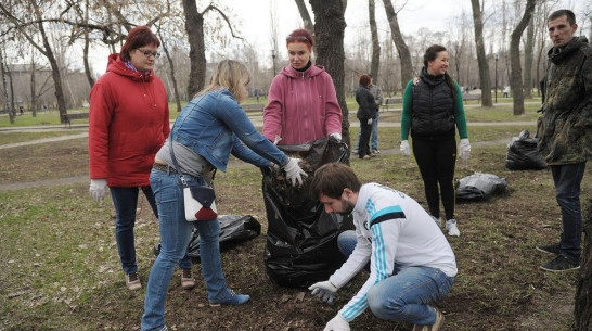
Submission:
[[[106,73],[90,92],[90,195],[101,201],[110,187],[117,215],[117,250],[129,290],[142,287],[133,238],[139,189],[158,217],[150,171],[170,132],[165,86],[153,72],[159,46],[147,26],[131,29],[120,53],[108,56]],[[186,254],[179,267],[183,288],[193,288]]]

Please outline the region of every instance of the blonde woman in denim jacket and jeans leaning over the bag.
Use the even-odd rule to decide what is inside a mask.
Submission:
[[[239,105],[247,96],[249,76],[236,61],[221,61],[209,87],[200,92],[181,112],[169,140],[158,151],[150,182],[158,205],[162,249],[150,272],[142,330],[167,330],[165,298],[176,263],[183,256],[195,226],[200,234],[200,257],[211,306],[241,305],[248,295],[227,288],[220,262],[220,225],[215,220],[188,222],[183,187],[170,156],[172,145],[185,180],[211,186],[216,169],[226,171],[230,154],[258,167],[282,166],[293,184],[300,184],[305,171],[298,158],[278,150],[253,126]],[[171,139],[169,137],[169,139]]]

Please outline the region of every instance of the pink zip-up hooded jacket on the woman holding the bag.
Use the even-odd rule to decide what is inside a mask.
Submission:
[[[320,65],[305,72],[286,66],[273,78],[263,110],[263,136],[278,144],[300,144],[342,135],[342,109],[333,79]]]

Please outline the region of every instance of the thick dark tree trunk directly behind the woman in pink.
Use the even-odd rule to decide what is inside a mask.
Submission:
[[[342,139],[350,145],[349,111],[345,100],[345,50],[344,35],[346,22],[344,17],[346,1],[343,0],[310,0],[314,13],[314,36],[317,40],[317,63],[325,67],[333,78],[337,101],[342,107]],[[349,162],[349,161],[348,161]]]

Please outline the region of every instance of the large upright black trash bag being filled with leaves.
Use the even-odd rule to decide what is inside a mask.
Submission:
[[[280,145],[286,154],[299,157],[308,177],[301,188],[294,188],[282,173],[263,173],[263,199],[268,217],[263,256],[267,277],[278,285],[306,288],[326,280],[342,266],[345,257],[337,249],[337,237],[352,229],[351,215],[327,214],[309,183],[317,168],[325,163],[345,162],[347,145],[334,139],[308,144]]]

